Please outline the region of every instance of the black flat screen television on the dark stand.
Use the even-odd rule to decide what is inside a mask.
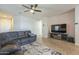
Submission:
[[[66,33],[66,24],[51,25],[51,32]]]

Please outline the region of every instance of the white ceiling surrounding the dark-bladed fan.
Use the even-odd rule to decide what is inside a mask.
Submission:
[[[26,4],[26,6],[29,6]],[[22,14],[27,17],[33,17],[36,19],[41,19],[42,17],[52,17],[58,14],[62,14],[71,9],[75,8],[73,4],[39,4],[37,9],[41,9],[41,13],[31,14],[30,12],[24,12],[27,10],[20,4],[2,4],[0,5],[0,10],[12,15]]]

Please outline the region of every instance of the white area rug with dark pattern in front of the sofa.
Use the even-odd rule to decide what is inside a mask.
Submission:
[[[54,49],[48,48],[39,42],[34,42],[21,47],[24,55],[62,55]]]

